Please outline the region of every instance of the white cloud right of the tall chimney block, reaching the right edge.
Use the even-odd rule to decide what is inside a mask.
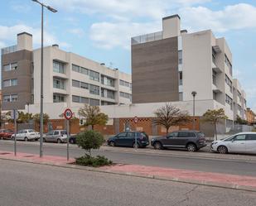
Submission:
[[[256,7],[239,3],[212,11],[206,7],[185,7],[179,9],[182,25],[192,30],[211,29],[225,32],[256,27]]]

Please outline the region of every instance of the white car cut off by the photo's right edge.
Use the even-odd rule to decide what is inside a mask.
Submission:
[[[256,154],[256,132],[241,132],[210,144],[211,151]]]

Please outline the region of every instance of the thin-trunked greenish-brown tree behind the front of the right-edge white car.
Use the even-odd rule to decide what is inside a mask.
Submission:
[[[206,113],[203,114],[202,121],[210,122],[215,126],[215,139],[217,140],[217,124],[222,123],[221,120],[225,120],[228,117],[225,116],[225,110],[223,108],[220,109],[208,109]]]

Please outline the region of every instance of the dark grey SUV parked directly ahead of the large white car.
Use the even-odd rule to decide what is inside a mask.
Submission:
[[[202,132],[188,130],[171,132],[165,137],[152,138],[151,145],[156,150],[170,148],[198,151],[200,148],[206,146],[206,143],[205,135]]]

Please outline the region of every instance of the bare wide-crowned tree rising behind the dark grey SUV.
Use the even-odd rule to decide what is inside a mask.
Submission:
[[[186,111],[181,111],[181,109],[176,108],[171,105],[171,103],[166,103],[165,106],[158,108],[154,114],[156,119],[154,119],[153,122],[165,127],[167,129],[167,133],[171,126],[183,125],[191,122],[191,117],[189,117]]]

